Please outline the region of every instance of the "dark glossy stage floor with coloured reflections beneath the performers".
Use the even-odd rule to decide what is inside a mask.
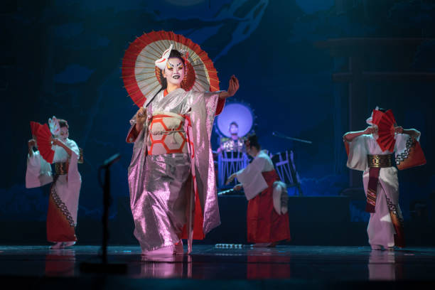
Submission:
[[[104,269],[99,246],[58,250],[0,246],[0,281],[27,289],[175,289],[183,285],[189,289],[358,289],[367,285],[409,289],[435,285],[432,247],[371,251],[369,247],[240,246],[194,245],[190,255],[152,259],[141,257],[139,247],[110,246],[107,257],[112,268]],[[125,272],[117,272],[121,266]]]

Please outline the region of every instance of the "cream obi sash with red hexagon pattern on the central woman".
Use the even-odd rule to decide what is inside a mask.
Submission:
[[[171,112],[156,112],[149,121],[147,151],[150,155],[187,153],[185,117]]]

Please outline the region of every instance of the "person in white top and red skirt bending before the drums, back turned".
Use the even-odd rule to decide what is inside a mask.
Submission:
[[[274,247],[279,241],[290,240],[287,190],[279,181],[274,163],[266,151],[261,150],[256,135],[248,136],[247,154],[254,160],[228,178],[240,181],[235,190],[242,187],[248,202],[247,241],[256,247]]]

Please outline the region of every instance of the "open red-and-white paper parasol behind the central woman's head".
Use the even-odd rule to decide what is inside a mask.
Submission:
[[[219,90],[218,73],[208,54],[189,38],[173,32],[144,33],[129,45],[122,59],[122,78],[131,100],[142,107],[161,88],[160,69],[155,61],[173,45],[185,56],[186,76],[181,87],[200,92]]]

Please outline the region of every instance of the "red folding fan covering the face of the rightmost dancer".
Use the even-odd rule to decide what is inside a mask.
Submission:
[[[387,112],[382,112],[380,110],[373,110],[373,124],[377,125],[377,144],[379,144],[382,151],[394,151],[394,144],[396,139],[394,139],[394,124],[396,120],[392,114],[392,110],[389,109]]]

